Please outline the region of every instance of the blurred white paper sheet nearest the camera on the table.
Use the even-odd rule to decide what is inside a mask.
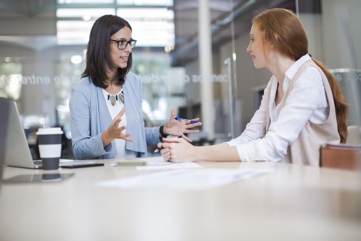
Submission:
[[[239,180],[268,174],[269,170],[252,169],[191,169],[157,172],[134,177],[96,182],[96,187],[122,190],[190,190],[200,191],[220,187]]]

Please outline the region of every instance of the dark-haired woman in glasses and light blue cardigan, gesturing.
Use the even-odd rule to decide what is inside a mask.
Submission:
[[[188,129],[201,123],[175,120],[174,109],[165,125],[145,128],[142,81],[129,72],[136,42],[130,24],[123,18],[104,15],[95,21],[86,69],[73,85],[69,101],[76,159],[145,157],[147,145],[157,145],[162,137],[182,135],[191,141],[183,133],[199,132]]]

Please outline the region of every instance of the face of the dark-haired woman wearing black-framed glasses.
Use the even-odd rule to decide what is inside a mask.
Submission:
[[[132,39],[132,30],[125,26],[118,32],[111,35],[110,39],[129,41]],[[125,49],[119,49],[118,43],[110,42],[110,58],[115,71],[117,68],[127,67],[128,57],[131,52],[132,48],[130,44],[128,44]]]

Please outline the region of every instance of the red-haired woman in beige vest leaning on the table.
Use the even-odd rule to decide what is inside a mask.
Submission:
[[[323,144],[345,143],[348,103],[335,77],[308,54],[294,13],[268,9],[252,21],[247,52],[272,73],[259,110],[236,139],[194,147],[177,138],[158,144],[165,160],[281,161],[319,166]]]

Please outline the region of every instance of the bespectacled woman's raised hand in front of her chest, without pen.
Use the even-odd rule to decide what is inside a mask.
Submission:
[[[125,110],[123,107],[122,110],[119,112],[119,114],[114,118],[114,120],[112,121],[112,124],[110,124],[109,128],[102,133],[103,147],[108,146],[109,143],[111,141],[113,141],[114,139],[123,139],[125,141],[134,142],[134,140],[128,138],[132,134],[130,134],[130,133],[124,134],[123,133],[123,131],[125,129],[127,129],[127,126],[119,127],[119,123],[122,121],[121,117],[123,116],[124,111]]]

